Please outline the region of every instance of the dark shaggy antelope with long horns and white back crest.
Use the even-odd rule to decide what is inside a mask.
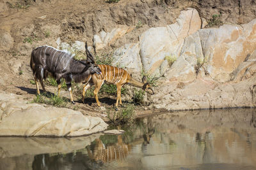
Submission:
[[[56,50],[51,46],[39,46],[31,53],[30,67],[36,82],[36,93],[40,94],[38,81],[46,92],[43,79],[51,75],[58,83],[58,96],[60,96],[61,78],[65,79],[70,94],[70,101],[74,104],[72,97],[71,81],[88,82],[92,74],[100,74],[100,68],[95,64],[93,55],[85,45],[87,60],[75,60],[70,52]]]

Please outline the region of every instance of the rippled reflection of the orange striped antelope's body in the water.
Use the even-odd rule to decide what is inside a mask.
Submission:
[[[130,145],[123,143],[122,137],[117,136],[117,143],[112,146],[107,146],[102,143],[100,139],[95,139],[96,145],[91,151],[87,148],[90,159],[101,162],[111,162],[112,160],[122,160],[129,154],[131,150]]]

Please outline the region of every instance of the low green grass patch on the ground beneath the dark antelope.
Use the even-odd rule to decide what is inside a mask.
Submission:
[[[67,105],[67,99],[64,97],[58,97],[56,95],[43,93],[40,95],[37,95],[35,99],[33,99],[32,103],[44,103],[49,104],[51,106],[56,107],[65,107]]]

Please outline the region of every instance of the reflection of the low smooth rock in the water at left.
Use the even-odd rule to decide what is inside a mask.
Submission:
[[[90,145],[100,134],[79,138],[1,138],[0,157],[38,155],[42,153],[69,153]]]

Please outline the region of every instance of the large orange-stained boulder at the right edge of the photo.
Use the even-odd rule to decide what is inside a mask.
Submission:
[[[230,73],[256,49],[256,19],[243,25],[201,29],[199,35],[207,72],[216,81],[229,81]]]

